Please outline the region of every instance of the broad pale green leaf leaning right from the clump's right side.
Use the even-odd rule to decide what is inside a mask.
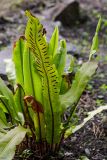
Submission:
[[[71,88],[67,93],[60,96],[62,106],[64,105],[65,107],[76,107],[82,92],[84,91],[92,75],[95,73],[97,67],[97,62],[86,62],[82,65],[82,67],[75,75],[75,79]]]

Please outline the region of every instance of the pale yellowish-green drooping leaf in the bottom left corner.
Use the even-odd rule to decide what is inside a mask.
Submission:
[[[19,145],[27,129],[18,126],[0,138],[0,160],[12,160],[15,154],[16,146]]]

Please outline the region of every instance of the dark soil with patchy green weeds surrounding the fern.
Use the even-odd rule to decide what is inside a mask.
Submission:
[[[77,58],[78,63],[88,59],[89,49],[95,32],[98,16],[99,14],[102,14],[103,17],[99,39],[100,49],[97,53],[97,58],[100,61],[99,68],[96,75],[87,86],[78,104],[77,115],[80,123],[87,112],[107,103],[107,2],[106,0],[81,0],[79,2],[81,6],[81,14],[87,14],[89,17],[88,21],[84,24],[75,25],[72,28],[65,28],[60,25],[60,35],[67,39],[69,53]],[[3,2],[1,1],[0,3]],[[19,34],[21,35],[24,33],[26,24],[24,10],[30,9],[41,19],[44,19],[43,11],[46,12],[47,10],[48,14],[48,11],[50,12],[50,9],[57,5],[57,3],[58,1],[55,0],[32,0],[30,2],[26,0],[8,6],[5,9],[6,12],[3,10],[3,14],[0,15],[0,47],[8,46],[13,43]],[[2,4],[0,4],[0,6],[2,6]],[[49,24],[49,22],[50,21],[48,21],[47,24]],[[47,31],[48,27],[49,26],[47,25]],[[97,115],[88,122],[84,128],[62,143],[59,156],[53,156],[50,157],[50,159],[107,160],[106,117],[107,112]],[[23,158],[15,158],[15,160],[18,159]],[[37,157],[29,157],[29,160],[33,159],[37,159]]]

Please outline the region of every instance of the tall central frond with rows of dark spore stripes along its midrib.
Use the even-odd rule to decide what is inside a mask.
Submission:
[[[60,137],[59,81],[55,65],[51,64],[47,53],[47,43],[43,36],[43,26],[39,20],[26,12],[29,17],[25,36],[29,48],[35,56],[35,65],[42,79],[43,106],[48,143],[57,143]]]

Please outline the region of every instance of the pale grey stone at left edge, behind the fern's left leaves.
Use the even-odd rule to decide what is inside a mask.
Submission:
[[[6,49],[0,51],[0,74],[5,75],[5,63],[4,59],[12,57],[12,46],[8,46]]]

